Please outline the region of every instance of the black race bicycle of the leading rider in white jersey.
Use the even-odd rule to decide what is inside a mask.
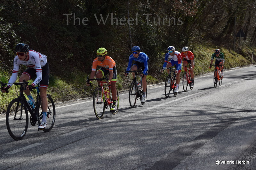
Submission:
[[[32,89],[36,89],[36,100],[35,107],[33,108],[30,104],[28,104],[23,90],[26,89],[28,82],[23,80],[23,82],[19,83],[3,83],[1,82],[1,89],[7,84],[14,84],[20,86],[20,94],[17,98],[13,99],[7,107],[6,110],[6,126],[10,136],[15,140],[22,139],[27,130],[28,130],[28,111],[30,113],[30,124],[32,126],[41,124],[41,119],[43,118],[42,100],[40,97],[39,87],[34,87]],[[32,90],[33,91],[33,90]],[[8,93],[9,91],[6,91]],[[54,122],[55,122],[55,105],[52,100],[52,97],[47,94],[47,123],[43,131],[48,132],[51,131]],[[40,107],[41,106],[41,107]],[[39,131],[39,129],[38,129]]]

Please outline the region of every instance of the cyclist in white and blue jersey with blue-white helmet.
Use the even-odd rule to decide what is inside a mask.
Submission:
[[[176,64],[176,88],[175,88],[175,95],[177,95],[179,91],[179,84],[180,84],[180,71],[181,71],[181,54],[178,51],[175,51],[174,46],[169,46],[167,48],[168,53],[165,54],[164,58],[164,65],[163,67],[172,67]],[[168,62],[168,58],[171,60]],[[164,69],[161,69],[161,72],[163,72]],[[170,69],[166,69],[167,73],[170,73]]]

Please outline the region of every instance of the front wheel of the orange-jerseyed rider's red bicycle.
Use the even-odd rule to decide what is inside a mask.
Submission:
[[[102,89],[100,86],[98,86],[93,95],[93,109],[95,116],[98,119],[101,119],[105,112],[105,97],[102,93]]]

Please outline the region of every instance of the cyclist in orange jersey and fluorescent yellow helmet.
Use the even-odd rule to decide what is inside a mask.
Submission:
[[[90,79],[94,78],[96,67],[100,66],[100,68],[96,72],[96,78],[101,78],[104,75],[109,73],[108,77],[108,85],[111,86],[112,90],[112,99],[113,104],[111,111],[116,111],[116,80],[117,80],[117,72],[116,72],[116,62],[109,56],[107,56],[106,48],[99,48],[97,50],[97,58],[95,58],[92,62],[92,73]],[[88,86],[92,84],[92,81],[89,81]]]

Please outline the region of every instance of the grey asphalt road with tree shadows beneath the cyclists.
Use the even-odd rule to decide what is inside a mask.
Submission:
[[[1,115],[0,169],[255,169],[255,73],[225,71],[217,88],[213,73],[196,77],[169,98],[163,84],[150,86],[135,108],[123,92],[118,113],[100,120],[91,99],[58,104],[50,132],[29,125],[20,141]]]

